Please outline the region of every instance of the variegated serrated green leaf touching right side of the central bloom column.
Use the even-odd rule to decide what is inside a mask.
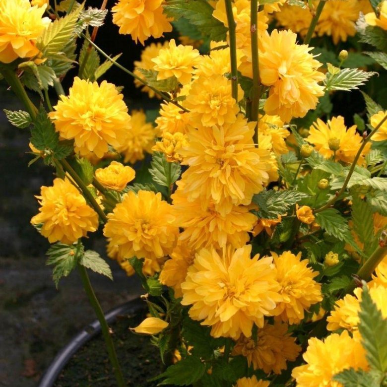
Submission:
[[[262,191],[254,195],[253,202],[258,205],[257,215],[264,219],[276,219],[289,211],[290,206],[296,204],[308,194],[298,191]]]

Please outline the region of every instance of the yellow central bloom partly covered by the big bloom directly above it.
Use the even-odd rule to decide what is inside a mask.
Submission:
[[[250,239],[257,217],[249,210],[249,206],[234,205],[231,211],[222,215],[216,211],[214,204],[202,207],[200,199],[188,201],[184,193],[184,182],[178,182],[179,189],[172,195],[173,213],[176,225],[184,231],[179,235],[179,241],[194,250],[215,249],[232,246],[240,248]]]

